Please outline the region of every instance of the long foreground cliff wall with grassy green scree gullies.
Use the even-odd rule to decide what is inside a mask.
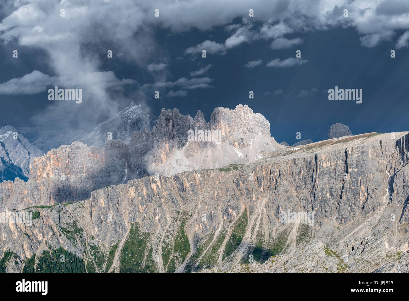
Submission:
[[[405,272],[409,133],[395,135],[330,139],[251,164],[143,177],[83,202],[27,209],[38,212],[33,226],[0,224],[0,249],[15,254],[9,271],[46,246],[63,247],[97,272],[237,271],[253,261],[254,272]],[[54,174],[37,166],[37,177]],[[314,212],[314,222],[285,222],[286,211]]]

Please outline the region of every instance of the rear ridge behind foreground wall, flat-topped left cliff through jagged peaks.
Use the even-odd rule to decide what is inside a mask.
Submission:
[[[138,108],[131,106],[121,112],[125,123],[142,118],[138,117]],[[96,132],[106,131],[112,124],[124,127],[119,121],[110,120]],[[220,141],[188,141],[188,131],[195,128],[220,131]],[[100,136],[94,138],[99,141]],[[209,123],[200,111],[192,119],[177,109],[162,109],[152,132],[147,126],[133,132],[129,145],[115,139],[106,140],[103,147],[74,142],[34,158],[27,183],[19,180],[0,183],[0,210],[77,202],[108,185],[155,173],[169,176],[187,170],[255,162],[282,148],[270,136],[268,121],[246,105],[238,105],[235,110],[216,108]]]

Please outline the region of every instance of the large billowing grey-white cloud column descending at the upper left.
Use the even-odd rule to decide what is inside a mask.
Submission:
[[[157,47],[149,34],[153,30],[144,24],[146,6],[131,0],[124,0],[121,5],[77,1],[59,4],[52,0],[16,1],[14,5],[2,11],[5,18],[0,22],[0,40],[43,51],[49,58],[43,62],[43,70],[52,73],[30,70],[2,83],[1,93],[36,94],[47,92],[50,85],[83,90],[81,104],[67,109],[65,102],[49,102],[48,108],[34,115],[34,124],[90,128],[115,116],[120,105],[132,101],[122,88],[134,81],[122,81],[114,72],[102,71],[101,65],[103,60],[114,60],[107,57],[112,49],[113,57],[124,53],[122,60],[146,66]],[[60,9],[65,9],[65,17],[60,16]],[[134,90],[134,95],[137,93]],[[139,99],[143,97],[139,95]]]

